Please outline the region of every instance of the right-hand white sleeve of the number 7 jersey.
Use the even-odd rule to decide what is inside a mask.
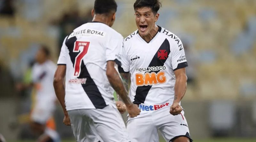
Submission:
[[[121,35],[112,36],[106,48],[106,60],[115,61],[120,66],[123,44],[123,37]]]

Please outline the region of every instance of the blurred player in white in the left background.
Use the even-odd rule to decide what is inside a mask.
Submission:
[[[57,142],[59,135],[55,131],[53,112],[55,110],[56,96],[52,86],[56,65],[49,59],[50,51],[46,46],[41,46],[37,51],[31,76],[32,83],[19,84],[18,90],[28,87],[35,88],[35,103],[31,113],[31,128],[40,135],[38,142]]]

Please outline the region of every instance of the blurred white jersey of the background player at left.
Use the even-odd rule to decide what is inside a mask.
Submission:
[[[36,63],[32,67],[33,83],[39,85],[36,88],[36,103],[47,104],[56,100],[52,85],[55,70],[56,65],[50,60],[47,60],[43,64]]]

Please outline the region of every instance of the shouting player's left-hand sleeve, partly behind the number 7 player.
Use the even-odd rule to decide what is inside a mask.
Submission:
[[[121,70],[119,69],[119,72],[126,73],[129,72],[130,66],[129,66],[129,60],[127,58],[127,52],[126,52],[126,47],[127,45],[124,44],[124,47],[122,49],[121,53]]]

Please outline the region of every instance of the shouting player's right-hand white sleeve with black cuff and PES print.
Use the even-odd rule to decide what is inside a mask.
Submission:
[[[173,71],[185,68],[188,66],[187,59],[185,56],[185,51],[183,45],[178,46],[177,43],[174,43],[172,46],[172,69]]]

